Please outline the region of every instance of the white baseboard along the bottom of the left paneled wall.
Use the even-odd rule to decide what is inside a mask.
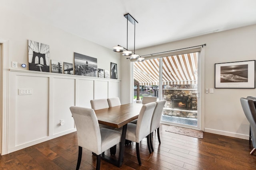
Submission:
[[[74,129],[70,129],[68,131],[65,131],[65,132],[62,132],[62,133],[58,133],[58,134],[55,134],[55,135],[52,135],[52,136],[48,136],[48,137],[44,137],[42,139],[38,139],[38,140],[35,140],[35,141],[31,141],[31,142],[28,142],[28,143],[24,143],[24,144],[21,144],[21,145],[17,145],[15,146],[14,148],[10,148],[8,149],[8,153],[11,153],[11,152],[15,152],[17,150],[20,150],[20,149],[24,149],[26,147],[31,147],[33,145],[36,145],[38,143],[42,143],[42,142],[45,142],[45,141],[49,141],[51,139],[54,139],[56,137],[60,137],[60,136],[63,136],[63,135],[67,135],[69,133],[72,133],[72,132],[75,132],[76,131],[76,128]],[[6,153],[6,154],[8,154]]]

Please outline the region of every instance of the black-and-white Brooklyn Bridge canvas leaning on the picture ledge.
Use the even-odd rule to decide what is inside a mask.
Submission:
[[[49,45],[28,40],[28,70],[50,72]]]

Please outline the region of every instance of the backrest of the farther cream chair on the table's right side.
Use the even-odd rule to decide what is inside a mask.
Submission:
[[[152,120],[151,120],[150,133],[156,130],[158,127],[160,127],[160,119],[162,116],[162,111],[164,109],[165,103],[166,103],[166,100],[160,100],[156,102],[156,107],[154,109]]]

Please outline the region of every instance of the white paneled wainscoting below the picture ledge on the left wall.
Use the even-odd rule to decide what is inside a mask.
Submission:
[[[120,98],[120,84],[116,79],[10,70],[8,153],[76,131],[69,107],[91,107],[92,99]],[[20,95],[20,90],[31,94]]]

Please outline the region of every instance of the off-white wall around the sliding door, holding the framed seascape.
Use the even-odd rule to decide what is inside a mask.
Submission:
[[[214,64],[256,59],[256,25],[212,33],[164,45],[137,50],[139,55],[181,49],[206,43],[204,47],[204,87],[214,88]],[[121,59],[121,64],[129,61]],[[124,66],[122,65],[122,68]],[[127,70],[127,69],[126,69]],[[122,97],[128,95],[128,78],[122,72]],[[204,131],[248,139],[249,123],[240,104],[240,98],[256,96],[255,89],[214,89],[213,94],[204,95]],[[123,102],[125,102],[123,100]]]

